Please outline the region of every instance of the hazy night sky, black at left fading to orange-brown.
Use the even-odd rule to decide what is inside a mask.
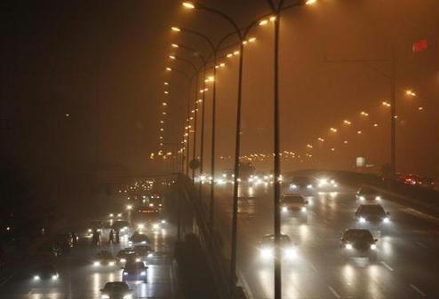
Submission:
[[[268,9],[262,0],[204,3],[230,13],[240,26]],[[164,80],[172,83],[166,142],[178,142],[177,121],[184,117],[188,96],[184,81],[164,72],[170,43],[188,43],[208,54],[202,42],[172,35],[169,27],[193,28],[214,40],[231,30],[212,16],[182,12],[180,2],[171,0],[10,2],[2,11],[2,156],[28,169],[163,169],[162,162],[148,158],[158,150]],[[385,76],[389,63],[330,64],[324,58],[387,59],[394,45],[397,114],[402,121],[397,127],[398,170],[437,177],[432,161],[439,153],[438,15],[435,0],[324,0],[284,12],[279,85],[283,150],[313,153],[314,161],[303,167],[349,169],[357,155],[378,169],[387,162],[388,108],[380,103],[390,98]],[[273,152],[272,34],[271,26],[253,29],[257,43],[245,48],[243,154]],[[428,49],[413,54],[412,43],[420,39],[427,39]],[[225,60],[227,67],[217,76],[219,156],[232,155],[234,146],[237,58]],[[190,73],[185,65],[174,67]],[[408,88],[419,97],[406,97],[403,90]],[[206,153],[211,101],[207,93]],[[421,114],[418,106],[425,107]],[[378,130],[361,119],[362,110],[371,114],[370,122],[379,123]],[[352,121],[355,130],[343,130],[344,119]],[[339,139],[331,138],[330,127],[340,129]],[[357,136],[356,130],[363,135]],[[319,148],[318,137],[328,146]],[[348,146],[340,146],[342,139]],[[307,151],[307,144],[315,148]],[[334,153],[328,150],[332,146]],[[220,162],[218,169],[231,165]],[[301,167],[283,164],[283,169]],[[269,163],[259,168],[271,169]]]

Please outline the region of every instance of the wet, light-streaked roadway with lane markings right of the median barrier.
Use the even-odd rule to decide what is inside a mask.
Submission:
[[[283,188],[283,192],[286,190]],[[207,190],[204,194],[208,194]],[[217,187],[217,229],[229,256],[232,185]],[[282,232],[297,243],[298,255],[283,263],[283,298],[438,298],[439,222],[383,198],[391,214],[382,232],[374,231],[378,261],[345,261],[339,254],[342,232],[355,227],[355,189],[308,194],[308,221],[283,217]],[[206,196],[206,195],[204,195]],[[273,297],[273,264],[262,261],[261,237],[273,233],[271,187],[240,190],[237,268],[250,298]]]

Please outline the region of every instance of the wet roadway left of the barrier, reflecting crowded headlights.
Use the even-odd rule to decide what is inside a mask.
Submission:
[[[174,298],[176,296],[176,275],[172,267],[173,230],[148,232],[154,256],[148,258],[148,283],[129,283],[134,298]],[[108,245],[103,238],[102,249],[110,250],[116,256],[120,248],[128,247],[127,236],[120,244]],[[100,298],[100,289],[108,281],[120,281],[120,265],[113,267],[92,265],[97,249],[90,240],[82,239],[68,257],[58,258],[58,281],[34,281],[32,263],[24,262],[12,279],[0,286],[2,299],[83,299]]]

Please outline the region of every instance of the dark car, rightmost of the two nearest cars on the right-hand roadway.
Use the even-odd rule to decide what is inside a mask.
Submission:
[[[378,239],[373,239],[369,230],[349,228],[340,239],[340,253],[345,259],[352,257],[367,257],[370,262],[377,260]]]

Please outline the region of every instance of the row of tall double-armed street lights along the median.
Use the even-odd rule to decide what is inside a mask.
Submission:
[[[249,42],[253,42],[254,38],[250,38],[247,40],[247,35],[251,31],[251,28],[254,28],[257,25],[264,26],[267,24],[268,21],[271,21],[275,25],[275,45],[274,45],[274,152],[275,152],[275,162],[274,162],[274,177],[275,177],[275,193],[274,193],[274,205],[275,205],[275,223],[274,223],[274,231],[275,231],[275,256],[280,256],[280,205],[279,205],[279,199],[280,199],[280,142],[279,142],[279,92],[278,92],[278,65],[279,65],[279,59],[278,59],[278,49],[279,49],[279,24],[280,24],[280,13],[284,9],[288,9],[295,6],[300,6],[304,4],[314,4],[316,0],[299,0],[296,1],[294,4],[290,5],[284,5],[283,0],[275,4],[273,1],[267,0],[267,3],[271,9],[270,13],[267,13],[253,22],[246,28],[239,28],[235,20],[233,20],[231,17],[229,17],[224,12],[220,12],[216,9],[213,9],[212,7],[207,7],[203,4],[196,4],[191,2],[185,2],[183,3],[183,6],[192,11],[204,11],[204,12],[210,12],[214,15],[219,16],[222,20],[226,20],[227,23],[233,28],[233,32],[231,34],[226,35],[223,39],[220,40],[219,43],[214,44],[209,39],[208,36],[202,35],[196,31],[187,29],[187,28],[178,28],[178,27],[172,27],[172,31],[176,33],[180,32],[187,32],[190,34],[198,35],[202,37],[207,43],[209,43],[209,46],[211,48],[211,55],[213,59],[213,75],[212,75],[212,153],[211,153],[211,175],[214,177],[215,173],[215,141],[216,141],[216,70],[217,70],[217,58],[219,51],[221,51],[221,45],[224,43],[228,37],[235,36],[238,38],[239,41],[239,50],[236,52],[239,55],[239,62],[238,62],[238,88],[237,88],[237,97],[236,97],[236,122],[235,122],[235,166],[234,166],[234,191],[233,191],[233,213],[232,213],[232,240],[231,240],[231,253],[230,253],[230,286],[232,287],[231,290],[231,296],[234,296],[234,290],[235,290],[235,272],[236,272],[236,243],[237,243],[237,204],[238,204],[238,179],[239,179],[239,157],[241,152],[241,111],[242,111],[242,86],[243,86],[243,57],[244,57],[244,45]],[[179,48],[180,45],[172,44],[173,48]],[[233,53],[235,54],[235,53]],[[230,57],[230,54],[227,54],[227,57]],[[171,59],[177,59],[176,56],[172,55]],[[203,71],[203,99],[202,99],[202,120],[201,120],[201,146],[200,146],[200,173],[203,173],[204,170],[204,100],[205,100],[205,83],[206,83],[206,76],[205,71],[208,67],[208,63],[204,61],[204,71]],[[167,70],[172,70],[171,67],[168,67]],[[198,85],[198,72],[196,71],[195,74],[196,77],[196,90]],[[189,80],[190,81],[190,80]],[[196,103],[198,102],[196,98]],[[196,106],[196,105],[195,105]],[[197,109],[195,108],[195,112],[197,112]],[[196,119],[194,120],[194,127],[196,127]],[[195,161],[196,158],[196,128],[194,133],[194,146],[193,146],[193,161]],[[187,137],[186,140],[189,140],[190,137],[190,117],[187,118],[186,127],[185,127],[185,133],[184,137]],[[188,173],[188,142],[186,142],[186,145],[184,145],[187,148],[187,173]],[[194,170],[192,172],[192,177],[195,177]],[[201,189],[201,182],[200,182],[200,199],[202,196],[202,189]],[[211,224],[211,230],[212,234],[214,232],[214,184],[211,185],[211,193],[210,193],[210,224]],[[275,298],[281,298],[281,262],[280,259],[275,258]]]

